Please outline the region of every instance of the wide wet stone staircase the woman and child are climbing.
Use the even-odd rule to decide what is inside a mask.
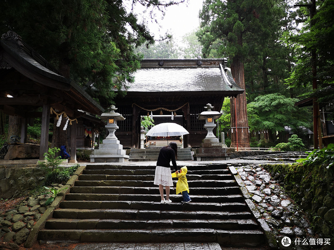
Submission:
[[[259,246],[265,235],[226,164],[188,166],[192,201],[171,189],[161,204],[154,166],[90,164],[38,239],[74,242],[218,242]],[[176,179],[174,187],[176,187]]]

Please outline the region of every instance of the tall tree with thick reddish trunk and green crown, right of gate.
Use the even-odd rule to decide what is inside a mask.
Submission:
[[[244,65],[247,62],[248,66],[251,62],[259,65],[263,87],[268,86],[269,52],[266,55],[263,51],[269,51],[268,41],[275,41],[273,34],[279,28],[277,18],[281,9],[276,2],[206,0],[203,4],[201,30],[197,32],[203,44],[203,55],[228,56],[234,80],[243,89],[246,89]],[[260,72],[259,69],[253,69],[253,73]],[[249,147],[248,130],[241,133],[248,127],[246,94],[231,98],[230,103],[231,127],[234,131],[237,127],[238,132],[232,135],[232,146],[238,143],[241,147]]]

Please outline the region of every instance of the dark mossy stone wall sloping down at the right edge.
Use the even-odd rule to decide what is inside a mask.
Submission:
[[[316,233],[334,239],[334,168],[263,166],[299,201]]]

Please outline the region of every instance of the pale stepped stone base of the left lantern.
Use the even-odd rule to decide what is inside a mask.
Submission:
[[[127,162],[129,156],[126,155],[123,145],[117,139],[104,139],[99,149],[95,149],[90,155],[91,162]]]

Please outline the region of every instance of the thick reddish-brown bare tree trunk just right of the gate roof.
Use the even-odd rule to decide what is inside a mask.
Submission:
[[[233,58],[231,64],[231,73],[234,77],[235,83],[240,88],[246,89],[243,62],[238,56]],[[249,148],[246,92],[237,95],[236,98],[231,97],[230,112],[231,129],[233,130],[233,133],[231,133],[232,142],[230,147]]]

